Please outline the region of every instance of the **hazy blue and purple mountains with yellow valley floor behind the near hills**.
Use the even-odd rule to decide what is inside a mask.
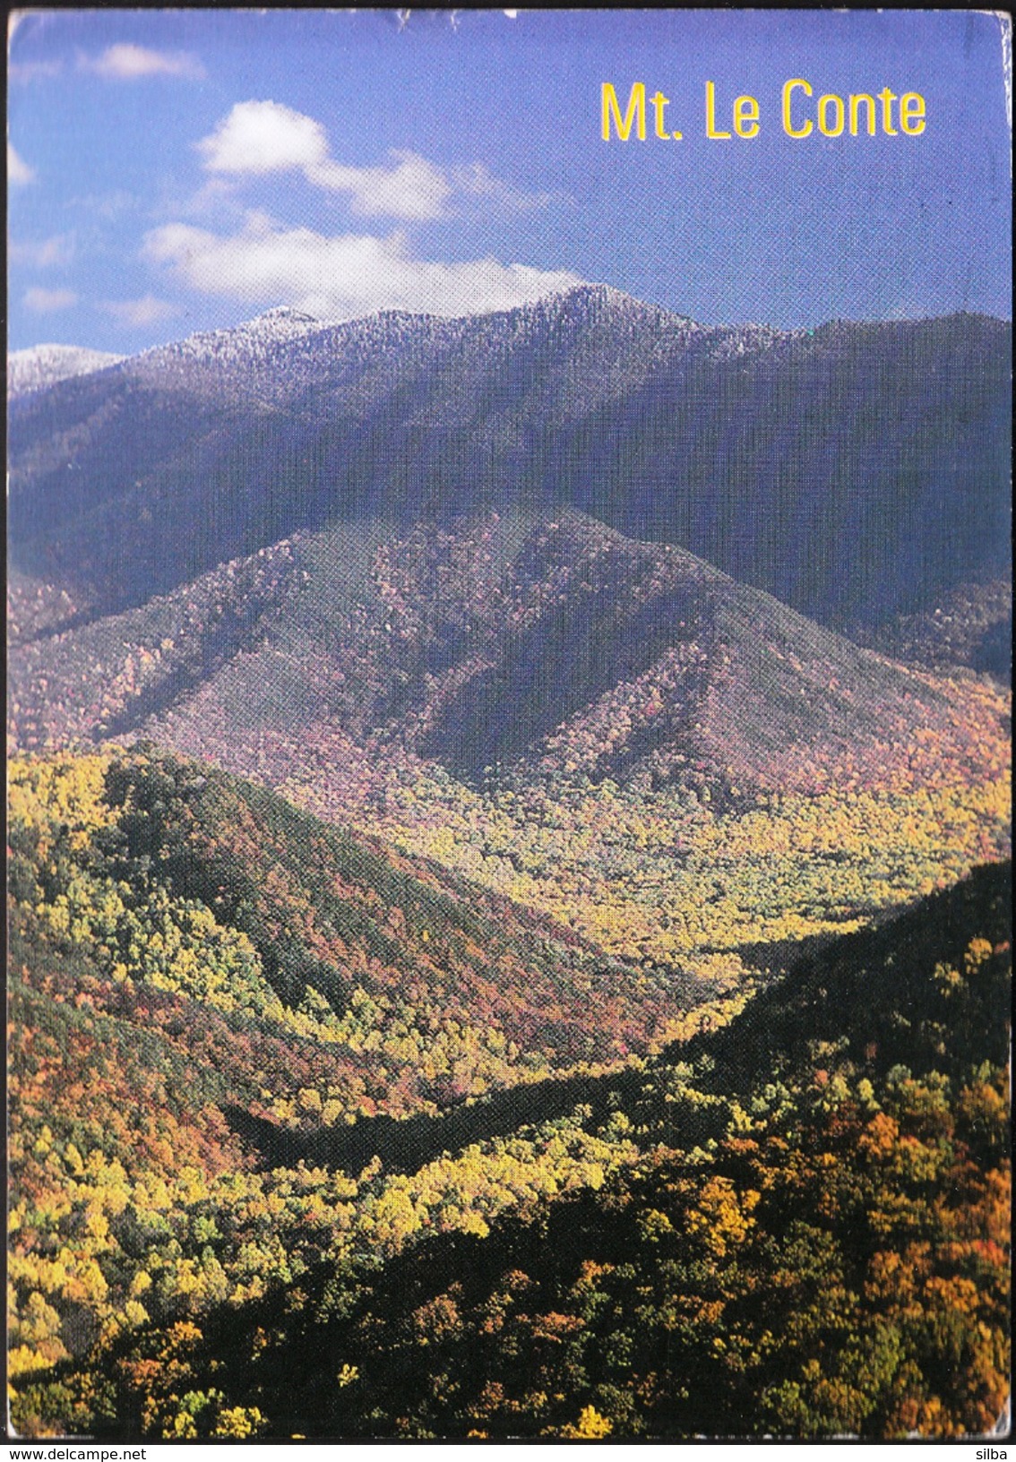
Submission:
[[[671,972],[843,927],[1007,849],[1009,700],[971,673],[1012,614],[1007,338],[583,287],[281,308],[16,398],[9,743],[155,741]]]

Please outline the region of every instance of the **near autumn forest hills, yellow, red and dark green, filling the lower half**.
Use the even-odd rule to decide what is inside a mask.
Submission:
[[[1007,864],[734,980],[151,746],[9,846],[22,1436],[994,1425]]]

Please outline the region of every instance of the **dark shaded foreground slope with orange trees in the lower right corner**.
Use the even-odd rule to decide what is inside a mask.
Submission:
[[[1010,898],[1006,870],[979,870],[838,942],[810,987],[788,982],[814,1001],[797,1047],[773,990],[643,1072],[614,1114],[643,1156],[602,1186],[406,1246],[355,1298],[323,1270],[285,1325],[295,1389],[247,1360],[282,1297],[243,1336],[225,1313],[206,1327],[197,1374],[228,1357],[234,1405],[295,1430],[327,1398],[325,1428],[354,1436],[990,1433],[1009,1386]]]

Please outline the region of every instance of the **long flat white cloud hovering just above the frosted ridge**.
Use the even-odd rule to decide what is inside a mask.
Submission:
[[[167,224],[146,235],[145,254],[205,294],[246,304],[292,304],[325,320],[396,308],[443,316],[485,313],[580,284],[566,270],[497,259],[415,259],[399,232],[387,238],[329,237],[285,228],[263,213],[247,215],[244,228],[230,235]]]

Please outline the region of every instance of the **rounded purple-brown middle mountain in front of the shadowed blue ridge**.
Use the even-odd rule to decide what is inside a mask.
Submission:
[[[570,509],[298,534],[37,633],[10,687],[15,744],[140,734],[219,760],[336,732],[471,782],[525,766],[813,791],[846,765],[912,769],[918,731],[972,772],[998,735],[990,712],[956,725],[969,689]]]

